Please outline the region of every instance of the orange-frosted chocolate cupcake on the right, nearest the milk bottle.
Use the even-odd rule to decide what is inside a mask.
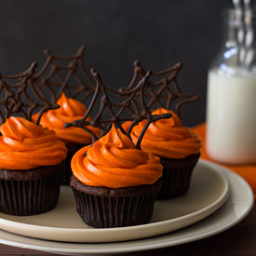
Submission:
[[[190,128],[182,127],[178,115],[159,108],[152,115],[170,113],[171,118],[150,124],[141,141],[141,149],[157,155],[163,165],[163,185],[157,198],[171,198],[185,194],[189,188],[195,164],[200,156],[201,141]],[[146,120],[132,128],[130,136],[138,141]],[[128,128],[129,123],[124,124]]]

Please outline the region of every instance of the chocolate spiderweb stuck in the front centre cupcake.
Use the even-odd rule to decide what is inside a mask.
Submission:
[[[151,74],[150,71],[141,78],[135,87],[124,91],[116,91],[112,88],[107,88],[102,82],[101,75],[94,69],[91,69],[91,74],[96,82],[96,88],[92,101],[88,106],[88,111],[83,118],[75,120],[72,123],[66,123],[65,127],[83,128],[92,136],[92,143],[97,141],[99,138],[91,129],[88,128],[88,126],[100,128],[101,138],[109,131],[114,123],[116,128],[120,128],[120,130],[130,138],[131,129],[142,119],[146,119],[146,125],[142,129],[141,135],[136,144],[136,147],[140,148],[141,140],[146,128],[158,119],[169,118],[171,116],[170,114],[151,115],[151,111],[144,101],[144,89],[148,83],[148,78]],[[98,102],[100,104],[97,104]],[[91,114],[92,110],[95,107],[97,108],[99,105],[98,113],[88,120],[88,116]],[[104,117],[104,112],[108,112],[110,118]],[[128,128],[128,132],[126,132],[122,127],[122,123],[126,121],[132,121]]]

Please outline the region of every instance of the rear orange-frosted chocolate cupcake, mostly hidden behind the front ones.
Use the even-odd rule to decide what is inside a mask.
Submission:
[[[61,98],[57,101],[60,105],[59,109],[49,110],[42,115],[40,125],[55,131],[57,137],[66,143],[68,154],[66,158],[65,168],[62,171],[62,184],[69,184],[71,177],[71,159],[76,151],[91,143],[91,136],[87,131],[81,128],[65,128],[65,123],[73,122],[82,118],[86,114],[85,105],[71,98],[67,98],[62,92]],[[37,115],[33,116],[36,120]],[[94,133],[99,134],[100,130],[91,128]]]

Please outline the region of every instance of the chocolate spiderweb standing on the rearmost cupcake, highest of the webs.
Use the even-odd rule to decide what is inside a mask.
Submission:
[[[94,93],[94,83],[84,66],[85,46],[79,47],[73,56],[60,57],[45,50],[47,60],[41,70],[34,74],[34,83],[41,89],[42,97],[50,95],[56,103],[64,91],[67,97],[86,101]]]

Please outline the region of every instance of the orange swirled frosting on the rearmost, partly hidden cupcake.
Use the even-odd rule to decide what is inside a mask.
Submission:
[[[72,123],[74,120],[81,119],[86,114],[87,108],[80,101],[76,101],[71,98],[67,98],[64,93],[61,94],[61,98],[57,101],[60,105],[59,109],[49,110],[42,115],[40,125],[53,129],[61,141],[89,144],[91,143],[91,136],[82,128],[65,128],[65,123]],[[36,121],[38,114],[33,116]],[[100,134],[100,130],[97,128],[88,127],[96,135]]]

